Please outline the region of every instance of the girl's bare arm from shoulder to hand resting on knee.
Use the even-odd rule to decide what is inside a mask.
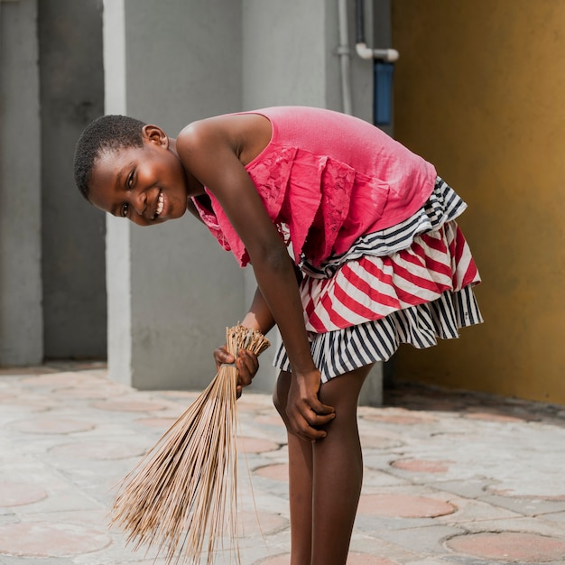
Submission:
[[[190,125],[179,135],[177,151],[184,166],[218,199],[247,249],[292,366],[289,418],[293,430],[303,439],[319,440],[326,432],[316,428],[330,421],[334,410],[318,398],[320,372],[310,353],[292,259],[239,161],[241,140],[230,125],[218,118]]]

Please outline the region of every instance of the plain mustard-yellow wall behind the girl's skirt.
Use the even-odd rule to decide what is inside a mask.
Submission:
[[[392,5],[394,134],[468,202],[486,319],[396,378],[565,403],[565,2]]]

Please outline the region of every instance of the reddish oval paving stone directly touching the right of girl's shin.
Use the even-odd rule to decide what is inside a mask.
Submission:
[[[382,494],[362,495],[358,512],[399,518],[434,518],[453,514],[456,510],[448,502],[426,496]]]

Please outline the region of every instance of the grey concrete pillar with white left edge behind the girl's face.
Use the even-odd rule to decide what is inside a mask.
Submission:
[[[106,113],[161,125],[241,108],[241,13],[220,0],[107,0]],[[243,272],[187,214],[158,227],[107,218],[110,377],[202,388],[214,347],[245,314]]]

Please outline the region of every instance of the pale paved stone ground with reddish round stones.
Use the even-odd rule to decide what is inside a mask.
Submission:
[[[97,364],[0,370],[0,565],[162,565],[107,513],[196,395],[136,392]],[[242,563],[288,565],[285,432],[267,395],[238,410]],[[565,407],[397,385],[359,427],[348,565],[565,562]]]

